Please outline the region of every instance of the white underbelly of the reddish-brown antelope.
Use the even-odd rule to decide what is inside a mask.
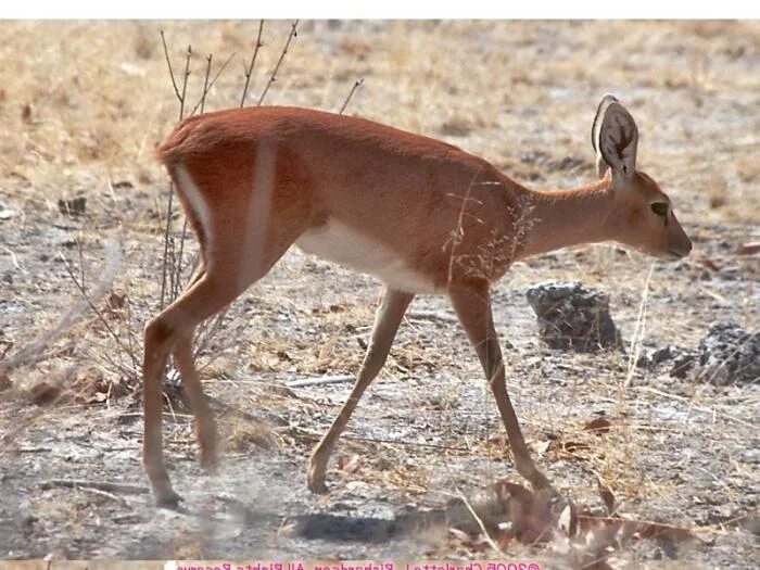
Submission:
[[[307,253],[373,275],[395,289],[415,293],[435,290],[431,279],[390,248],[333,218],[305,232],[295,244]]]

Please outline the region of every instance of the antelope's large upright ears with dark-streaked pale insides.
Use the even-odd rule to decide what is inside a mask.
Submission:
[[[636,172],[636,145],[638,128],[631,114],[611,94],[605,96],[596,110],[591,131],[591,142],[596,151],[599,178],[607,167],[613,177],[629,177]]]

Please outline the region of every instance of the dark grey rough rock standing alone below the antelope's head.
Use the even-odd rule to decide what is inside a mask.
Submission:
[[[545,282],[525,296],[539,318],[542,340],[552,349],[596,352],[622,347],[609,314],[609,297],[579,282]]]

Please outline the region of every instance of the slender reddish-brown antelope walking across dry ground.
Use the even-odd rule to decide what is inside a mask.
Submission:
[[[456,147],[364,118],[307,109],[226,110],[180,123],[157,148],[200,262],[183,293],[144,329],[143,466],[160,506],[176,506],[162,446],[162,378],[174,355],[194,415],[201,465],[218,457],[216,425],[192,357],[195,327],[264,277],[293,245],[371,274],[383,295],[353,390],[308,460],[326,491],[338,438],[376,378],[416,294],[445,294],[465,329],[509,438],[535,490],[536,467],[507,393],[490,283],[531,255],[612,241],[666,258],[692,243],[668,195],[636,169],[638,130],[612,96],[592,127],[599,179],[531,190]]]

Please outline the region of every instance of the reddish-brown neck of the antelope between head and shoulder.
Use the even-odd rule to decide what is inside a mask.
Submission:
[[[613,202],[609,177],[569,190],[525,190],[517,258],[612,239]]]

